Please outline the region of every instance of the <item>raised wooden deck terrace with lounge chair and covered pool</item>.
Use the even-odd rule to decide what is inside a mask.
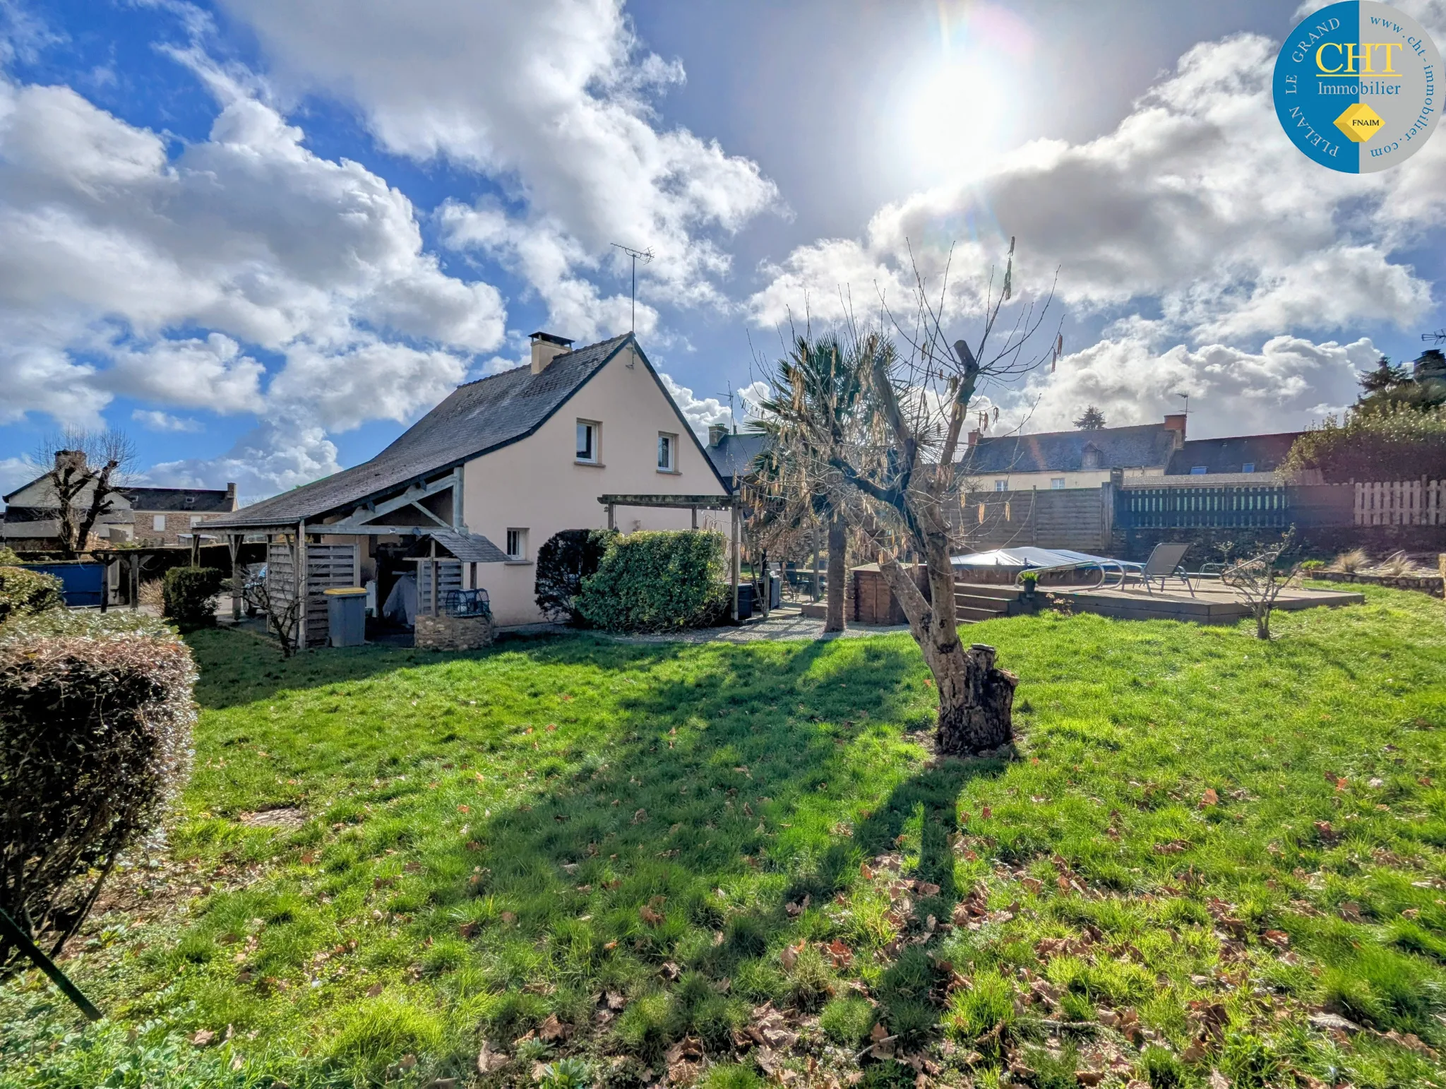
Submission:
[[[1194,596],[1178,581],[1170,580],[1165,590],[1145,590],[1138,583],[1122,589],[1073,590],[1069,587],[1040,587],[1038,600],[1048,607],[1050,596],[1076,613],[1096,613],[1121,620],[1189,620],[1192,623],[1236,623],[1251,615],[1249,606],[1228,586],[1215,580],[1194,583]],[[1021,600],[1015,586],[954,583],[954,603],[960,620],[989,620],[998,616],[1018,616],[1031,609]],[[1361,605],[1365,594],[1340,590],[1283,590],[1275,607],[1294,612],[1319,606]]]

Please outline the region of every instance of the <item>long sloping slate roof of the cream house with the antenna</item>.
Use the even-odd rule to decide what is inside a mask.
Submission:
[[[523,366],[458,386],[370,461],[207,519],[207,528],[289,525],[317,518],[526,438],[632,338],[625,333],[562,353],[539,375]],[[641,349],[638,354],[652,372]]]

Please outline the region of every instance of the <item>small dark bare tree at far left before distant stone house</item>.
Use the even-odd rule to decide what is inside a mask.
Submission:
[[[127,484],[136,447],[121,431],[65,428],[45,438],[32,460],[49,490],[40,511],[55,519],[68,560],[85,551],[91,531],[116,509]]]

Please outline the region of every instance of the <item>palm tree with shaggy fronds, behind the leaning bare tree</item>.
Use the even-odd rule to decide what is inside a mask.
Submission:
[[[827,466],[844,443],[863,395],[863,372],[837,337],[795,337],[772,373],[774,395],[759,403],[756,424],[772,441],[755,471],[762,492],[763,528],[824,525],[829,537],[829,600],[826,632],[844,628],[843,584],[847,578],[847,525],[830,500],[818,466]]]

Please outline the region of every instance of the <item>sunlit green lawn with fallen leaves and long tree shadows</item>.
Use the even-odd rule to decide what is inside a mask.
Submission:
[[[930,759],[905,636],[198,633],[163,865],[67,962],[110,1017],[12,981],[0,1085],[1446,1085],[1446,609],[1365,593],[972,628],[1012,761]]]

